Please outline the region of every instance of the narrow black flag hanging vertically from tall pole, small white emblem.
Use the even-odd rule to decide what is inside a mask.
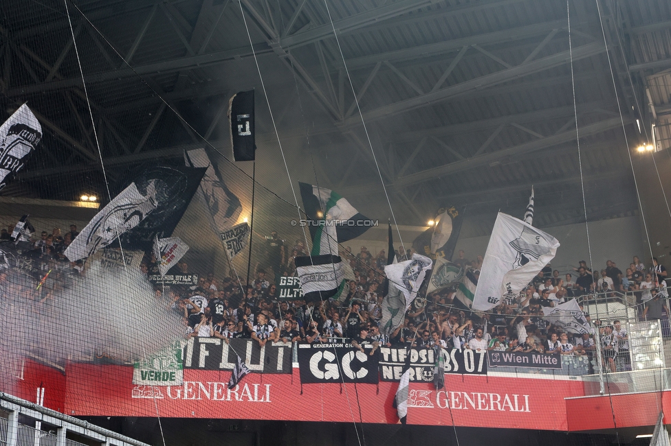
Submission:
[[[234,161],[254,161],[254,90],[231,97],[228,106]]]

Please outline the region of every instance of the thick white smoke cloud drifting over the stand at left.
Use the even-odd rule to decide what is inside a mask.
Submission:
[[[2,382],[17,374],[23,357],[58,366],[96,360],[124,364],[183,336],[179,315],[165,297],[155,296],[136,268],[103,268],[94,261],[82,277],[52,270],[41,290],[36,290],[39,281],[20,269],[3,271]]]

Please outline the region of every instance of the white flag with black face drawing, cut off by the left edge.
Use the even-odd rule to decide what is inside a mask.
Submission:
[[[42,127],[25,104],[0,126],[0,189],[7,185],[9,174],[21,170],[40,139]]]

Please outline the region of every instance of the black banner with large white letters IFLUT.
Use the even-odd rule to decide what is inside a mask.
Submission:
[[[184,368],[233,370],[239,355],[256,373],[292,373],[292,344],[251,339],[191,338],[184,347]]]

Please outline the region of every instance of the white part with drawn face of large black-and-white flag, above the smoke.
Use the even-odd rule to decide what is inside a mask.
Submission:
[[[67,247],[64,254],[69,261],[89,257],[140,224],[157,207],[153,182],[149,183],[146,191],[146,196],[142,195],[135,183],[131,183],[115,196]]]

